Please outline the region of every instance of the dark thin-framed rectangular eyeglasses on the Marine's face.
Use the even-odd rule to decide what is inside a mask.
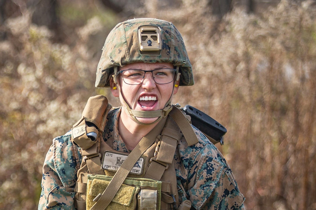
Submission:
[[[151,72],[154,81],[157,84],[167,84],[173,81],[176,69],[156,69],[152,71],[143,71],[138,69],[128,69],[118,71],[122,73],[123,81],[129,85],[139,85],[144,81],[146,72]]]

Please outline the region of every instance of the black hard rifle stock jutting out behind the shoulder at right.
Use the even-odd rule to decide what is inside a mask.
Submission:
[[[183,108],[180,108],[179,104],[176,104],[176,106],[185,114],[191,116],[192,125],[199,129],[208,139],[214,140],[212,141],[213,144],[218,142],[221,145],[224,144],[224,135],[227,133],[227,129],[219,122],[193,106],[186,105]]]

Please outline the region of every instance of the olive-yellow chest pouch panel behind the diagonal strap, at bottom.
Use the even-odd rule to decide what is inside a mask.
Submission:
[[[88,175],[86,209],[89,210],[100,198],[112,177]],[[160,209],[161,181],[144,178],[126,178],[106,207],[108,210]]]

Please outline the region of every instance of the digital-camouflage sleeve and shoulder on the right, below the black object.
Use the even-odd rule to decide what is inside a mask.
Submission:
[[[188,166],[188,191],[195,209],[244,209],[244,196],[226,160],[217,148],[195,128],[199,143],[194,145]]]

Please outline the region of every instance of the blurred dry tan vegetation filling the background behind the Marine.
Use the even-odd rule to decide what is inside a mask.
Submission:
[[[195,85],[173,102],[228,129],[216,146],[246,208],[316,209],[315,1],[220,16],[199,0],[148,0],[121,13],[96,0],[57,2],[58,26],[34,24],[35,7],[18,3],[0,19],[0,209],[37,208],[52,138],[80,118],[88,97],[117,105],[94,88],[95,70],[109,30],[134,17],[169,20],[183,35]]]

